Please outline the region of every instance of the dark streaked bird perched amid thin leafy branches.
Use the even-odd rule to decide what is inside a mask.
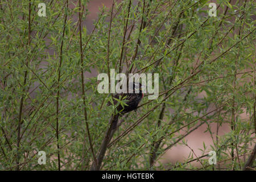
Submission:
[[[115,116],[114,122],[113,122],[113,129],[115,129],[115,127],[117,127],[117,120],[118,120],[118,115],[123,115],[125,113],[129,113],[130,111],[136,110],[139,102],[141,102],[144,94],[142,93],[142,84],[141,83],[137,83],[137,82],[133,82],[133,88],[129,88],[127,90],[127,93],[119,93],[119,94],[115,94],[113,96],[113,98],[117,98],[119,99],[119,96],[121,96],[121,98],[123,98],[124,100],[126,100],[125,104],[126,105],[118,105],[117,110],[118,110],[118,114]],[[132,93],[129,93],[129,90],[133,89]],[[139,93],[135,92],[137,89],[139,89]],[[126,96],[126,97],[125,97]],[[113,100],[113,104],[117,105],[118,101],[117,100]],[[107,104],[112,105],[111,102],[108,102]]]

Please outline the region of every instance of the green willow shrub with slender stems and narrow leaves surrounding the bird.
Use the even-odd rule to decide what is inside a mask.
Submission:
[[[114,1],[91,31],[88,1],[43,2],[46,16],[42,1],[0,1],[2,170],[90,169],[114,112],[97,74],[127,68],[159,73],[159,97],[119,118],[101,169],[245,167],[256,129],[254,1],[214,1],[217,16],[211,1]],[[203,125],[213,144],[195,156],[189,134]],[[177,144],[191,155],[161,163]]]

